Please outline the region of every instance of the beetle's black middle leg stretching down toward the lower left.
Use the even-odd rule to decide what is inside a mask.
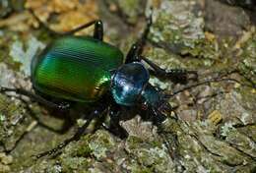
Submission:
[[[101,106],[100,108],[98,108],[97,110],[95,110],[94,112],[92,112],[89,117],[87,117],[87,122],[82,126],[79,127],[76,131],[76,133],[69,139],[65,140],[63,143],[58,144],[56,147],[41,152],[37,155],[35,155],[35,158],[40,158],[46,155],[51,155],[56,153],[58,150],[62,149],[63,147],[65,147],[67,144],[70,144],[71,142],[75,142],[75,141],[79,141],[80,138],[84,135],[87,127],[90,125],[91,121],[95,118],[97,118],[98,116],[102,115],[104,112],[106,111],[106,108],[104,106]]]

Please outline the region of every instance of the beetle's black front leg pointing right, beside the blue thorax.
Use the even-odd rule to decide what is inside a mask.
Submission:
[[[141,56],[141,59],[150,65],[150,67],[153,69],[153,71],[151,71],[153,75],[160,78],[167,78],[173,83],[186,84],[189,80],[198,80],[198,74],[196,71],[187,71],[185,69],[165,70],[145,57]]]

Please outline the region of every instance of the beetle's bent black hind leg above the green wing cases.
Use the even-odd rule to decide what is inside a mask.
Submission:
[[[93,25],[95,25],[95,33],[94,33],[94,37],[96,39],[102,40],[103,38],[103,24],[100,20],[95,20],[95,21],[91,21],[87,24],[84,24],[76,29],[72,29],[66,32],[57,32],[53,29],[50,29],[46,24],[44,24],[43,22],[40,21],[40,19],[33,13],[32,9],[29,9],[30,12],[32,13],[32,16],[35,18],[35,20],[39,23],[39,25],[46,29],[49,33],[51,33],[52,35],[58,35],[58,36],[63,36],[63,35],[70,35],[70,34],[74,34],[77,31],[80,31],[82,29],[86,29],[89,28]]]

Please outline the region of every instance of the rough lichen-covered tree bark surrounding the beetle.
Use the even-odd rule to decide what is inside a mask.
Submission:
[[[153,26],[143,54],[162,68],[199,74],[198,82],[187,85],[150,80],[172,95],[169,103],[178,119],[170,113],[158,133],[137,115],[121,123],[130,135],[126,140],[99,128],[36,160],[32,155],[72,136],[83,123],[76,117],[84,110],[78,105],[70,112],[72,126],[62,113],[15,93],[1,93],[0,172],[256,172],[253,1],[3,0],[0,86],[31,90],[32,56],[53,39],[29,8],[58,31],[101,19],[104,40],[126,53],[144,29],[151,7]],[[79,34],[92,34],[92,29]]]

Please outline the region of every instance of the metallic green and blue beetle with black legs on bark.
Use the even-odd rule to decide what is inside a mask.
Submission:
[[[141,38],[131,46],[124,59],[119,48],[103,41],[103,24],[100,20],[59,33],[40,22],[33,12],[32,15],[44,29],[57,35],[57,38],[32,58],[31,81],[34,93],[23,88],[8,87],[0,87],[0,92],[15,91],[59,110],[70,109],[70,104],[61,103],[63,101],[96,104],[96,109],[86,116],[87,122],[73,137],[51,150],[39,153],[37,158],[79,140],[90,122],[106,111],[110,116],[107,129],[121,139],[127,138],[127,132],[119,125],[122,120],[120,107],[136,107],[148,111],[153,123],[160,125],[166,118],[165,113],[171,111],[171,106],[165,95],[149,83],[150,73],[182,84],[189,79],[197,79],[196,71],[166,71],[142,56],[152,25],[151,17],[147,19],[147,27]],[[73,34],[93,25],[93,36]],[[143,62],[151,69],[147,69]],[[188,77],[189,74],[192,74],[191,78]],[[48,98],[61,101],[54,102]]]

